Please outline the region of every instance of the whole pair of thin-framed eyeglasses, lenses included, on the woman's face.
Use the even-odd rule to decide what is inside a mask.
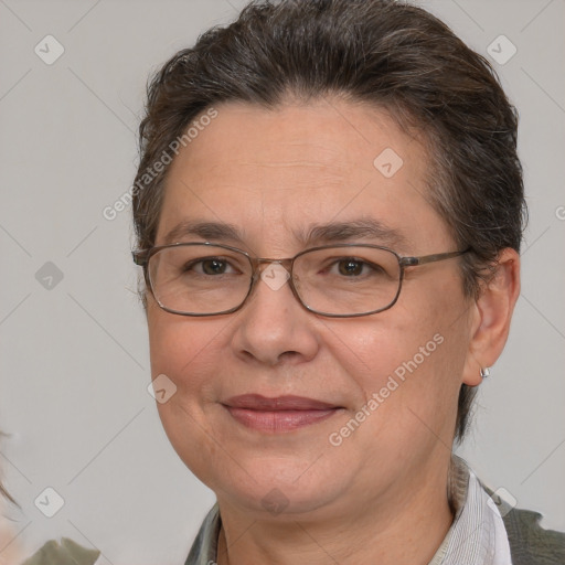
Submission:
[[[312,247],[292,258],[252,257],[214,243],[175,243],[132,252],[143,267],[157,303],[181,316],[235,312],[260,278],[276,290],[288,280],[297,300],[310,312],[352,318],[391,308],[401,294],[404,269],[450,259],[469,252],[402,257],[377,245]],[[270,268],[268,268],[270,266]]]

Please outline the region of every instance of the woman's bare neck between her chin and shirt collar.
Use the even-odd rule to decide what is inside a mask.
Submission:
[[[217,565],[427,565],[452,522],[447,477],[435,482],[433,489],[423,488],[429,484],[423,480],[405,489],[401,499],[365,499],[352,512],[326,512],[323,518],[253,519],[218,501]]]

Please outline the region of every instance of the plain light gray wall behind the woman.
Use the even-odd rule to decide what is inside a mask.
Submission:
[[[0,429],[11,434],[0,466],[29,553],[70,536],[102,550],[104,564],[183,563],[214,501],[147,392],[130,210],[114,221],[103,210],[132,182],[149,72],[243,4],[0,0]],[[488,58],[501,34],[518,49],[493,65],[521,114],[522,297],[462,452],[492,488],[563,531],[565,2],[424,6]],[[64,47],[51,65],[34,52],[47,34]],[[65,502],[51,519],[34,504],[47,487]]]

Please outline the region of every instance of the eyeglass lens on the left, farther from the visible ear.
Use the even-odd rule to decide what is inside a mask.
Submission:
[[[188,315],[221,313],[247,296],[252,266],[246,255],[212,245],[178,245],[149,260],[149,280],[159,305]]]

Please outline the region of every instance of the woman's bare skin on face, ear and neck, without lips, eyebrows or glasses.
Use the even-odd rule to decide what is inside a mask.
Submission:
[[[179,222],[224,222],[241,241],[214,242],[291,257],[319,243],[298,232],[370,217],[402,233],[401,255],[456,250],[426,199],[425,143],[383,110],[337,98],[216,108],[217,118],[171,164],[156,245]],[[373,160],[388,147],[404,164],[386,179]],[[220,565],[427,564],[452,521],[446,484],[459,387],[478,385],[480,367],[500,355],[518,295],[511,249],[477,301],[463,295],[458,259],[449,259],[408,268],[397,303],[362,318],[316,316],[288,285],[275,291],[260,280],[239,311],[209,318],[168,313],[149,294],[152,375],[177,385],[159,414],[181,459],[216,493]],[[332,446],[329,435],[435,334],[444,342]],[[306,428],[266,434],[222,405],[246,393],[343,408]],[[280,513],[262,504],[273,489],[288,502]]]

